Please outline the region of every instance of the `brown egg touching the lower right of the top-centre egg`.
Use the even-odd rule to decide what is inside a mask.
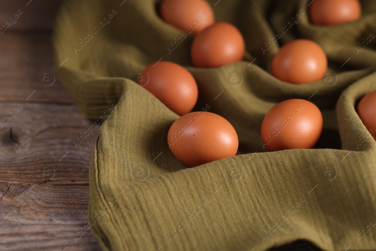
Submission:
[[[196,67],[214,68],[243,60],[245,50],[246,44],[238,28],[217,22],[193,39],[191,59]]]

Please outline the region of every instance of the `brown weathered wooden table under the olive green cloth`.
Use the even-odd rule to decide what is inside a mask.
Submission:
[[[0,250],[102,250],[90,231],[74,238],[87,224],[89,161],[100,128],[74,146],[91,122],[54,71],[51,30],[60,2],[0,9],[0,25],[23,12],[0,35]],[[311,248],[299,241],[273,250]]]

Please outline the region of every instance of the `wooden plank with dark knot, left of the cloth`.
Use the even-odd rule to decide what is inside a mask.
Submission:
[[[85,119],[76,106],[0,102],[0,122],[0,181],[88,185],[100,126]]]

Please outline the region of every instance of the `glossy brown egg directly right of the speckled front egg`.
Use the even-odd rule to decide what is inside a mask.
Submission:
[[[273,152],[284,149],[312,148],[320,138],[323,116],[316,105],[304,99],[277,103],[265,115],[261,137]]]

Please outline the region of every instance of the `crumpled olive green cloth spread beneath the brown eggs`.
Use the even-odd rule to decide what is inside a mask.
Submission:
[[[355,111],[376,89],[376,3],[361,1],[357,21],[318,27],[309,23],[311,0],[209,2],[216,21],[243,33],[245,61],[192,67],[193,36],[162,21],[157,0],[62,3],[53,37],[58,76],[87,118],[107,117],[92,153],[84,228],[104,250],[260,251],[300,239],[324,250],[376,249],[376,142]],[[270,74],[280,44],[295,38],[323,47],[323,81],[294,85]],[[167,132],[178,116],[136,84],[160,59],[194,75],[195,110],[233,125],[237,156],[194,168],[173,156]],[[262,119],[291,98],[320,108],[322,137],[315,149],[268,152]]]

